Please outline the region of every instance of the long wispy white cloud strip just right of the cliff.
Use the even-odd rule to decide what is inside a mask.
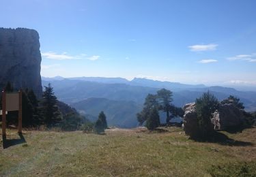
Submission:
[[[42,57],[46,59],[53,60],[77,60],[77,59],[88,59],[91,61],[96,61],[100,58],[98,55],[93,55],[91,57],[87,57],[87,54],[79,54],[79,55],[70,55],[67,52],[63,52],[61,54],[57,54],[55,52],[41,52]]]

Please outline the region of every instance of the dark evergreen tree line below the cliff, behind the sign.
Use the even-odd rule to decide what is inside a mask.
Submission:
[[[5,92],[14,92],[12,84],[8,82],[4,87]],[[100,112],[96,123],[91,123],[85,116],[76,112],[66,103],[57,100],[53,87],[49,83],[44,86],[40,100],[35,96],[33,90],[22,91],[22,116],[23,127],[38,128],[44,125],[46,129],[57,127],[63,131],[84,130],[87,132],[102,133],[107,129],[106,116]],[[1,99],[1,95],[0,95]],[[0,109],[1,109],[0,101]],[[8,112],[7,125],[17,125],[18,112]]]

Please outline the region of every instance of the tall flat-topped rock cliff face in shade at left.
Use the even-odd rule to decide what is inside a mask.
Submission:
[[[41,97],[41,53],[38,32],[0,28],[0,89],[10,81],[14,88],[32,88]]]

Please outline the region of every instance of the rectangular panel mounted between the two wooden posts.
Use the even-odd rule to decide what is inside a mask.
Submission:
[[[6,111],[19,110],[19,94],[6,93]]]

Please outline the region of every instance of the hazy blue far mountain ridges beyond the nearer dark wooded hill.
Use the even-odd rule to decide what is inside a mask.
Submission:
[[[94,82],[92,80],[94,80]],[[186,103],[195,101],[195,99],[200,97],[202,93],[210,91],[219,100],[225,99],[229,97],[229,95],[239,97],[244,103],[246,110],[256,110],[256,92],[253,91],[237,91],[234,88],[222,86],[205,87],[203,85],[186,85],[175,82],[160,82],[138,78],[135,78],[126,84],[118,83],[118,80],[122,79],[79,78],[79,80],[75,80],[74,78],[71,78],[50,80],[48,78],[48,80],[42,80],[42,85],[45,86],[48,82],[51,82],[58,99],[65,103],[76,103],[83,99],[95,97],[116,101],[134,101],[142,105],[148,93],[154,94],[160,88],[167,88],[173,91],[173,104],[175,104],[175,106],[182,107]],[[112,83],[115,81],[117,83]],[[137,85],[134,84],[135,81]]]

